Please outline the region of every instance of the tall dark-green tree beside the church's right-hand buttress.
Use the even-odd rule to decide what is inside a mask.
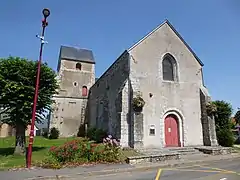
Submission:
[[[216,106],[214,117],[218,143],[221,146],[232,146],[234,143],[231,130],[232,106],[225,101],[214,101],[213,104]]]

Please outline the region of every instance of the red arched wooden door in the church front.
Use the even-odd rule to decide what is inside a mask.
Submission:
[[[178,122],[174,116],[165,119],[165,143],[166,147],[179,146]]]

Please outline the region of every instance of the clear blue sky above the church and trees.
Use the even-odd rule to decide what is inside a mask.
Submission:
[[[0,57],[37,60],[42,9],[49,8],[43,61],[56,70],[61,45],[91,49],[99,77],[127,48],[168,19],[204,63],[213,100],[240,107],[239,0],[1,0]]]

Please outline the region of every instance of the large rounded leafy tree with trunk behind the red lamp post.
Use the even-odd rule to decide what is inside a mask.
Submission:
[[[19,57],[0,59],[0,107],[8,117],[2,119],[16,129],[15,154],[26,151],[25,130],[31,123],[37,61]],[[44,112],[51,110],[52,96],[57,93],[56,73],[46,63],[41,64],[36,121],[41,123]]]

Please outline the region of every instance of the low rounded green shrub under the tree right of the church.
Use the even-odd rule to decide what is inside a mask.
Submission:
[[[220,129],[217,131],[218,143],[221,146],[232,147],[234,144],[234,136],[231,129]]]

